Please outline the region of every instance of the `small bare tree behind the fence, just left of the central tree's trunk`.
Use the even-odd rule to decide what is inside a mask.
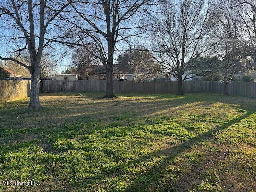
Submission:
[[[94,66],[100,64],[100,60],[94,56],[97,54],[98,49],[94,46],[87,46],[87,49],[84,47],[75,48],[74,54],[72,55],[72,66],[75,66],[78,73],[83,74],[86,80],[89,79]],[[91,52],[94,54],[91,54]]]

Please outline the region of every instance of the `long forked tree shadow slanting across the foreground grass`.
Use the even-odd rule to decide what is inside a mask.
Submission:
[[[156,157],[162,157],[161,160],[157,163],[157,166],[153,166],[149,170],[146,170],[143,173],[135,174],[132,176],[132,180],[128,181],[128,187],[126,188],[126,192],[134,192],[134,191],[154,191],[152,189],[156,188],[156,191],[179,191],[177,189],[176,183],[177,180],[169,182],[168,184],[162,185],[162,183],[158,180],[159,178],[163,178],[163,175],[168,172],[167,168],[170,163],[179,155],[182,154],[185,150],[190,148],[190,146],[200,145],[200,142],[205,140],[210,140],[216,133],[232,126],[240,122],[241,120],[248,118],[254,112],[248,112],[238,118],[230,120],[229,122],[218,126],[215,129],[209,130],[201,135],[194,136],[191,139],[188,139],[184,142],[174,144],[170,147],[164,148],[162,150],[152,152],[146,156],[142,156],[140,158],[134,160],[128,160],[128,162],[122,162],[118,164],[118,166],[113,166],[110,170],[116,170],[114,172],[109,173],[108,170],[102,170],[101,174],[96,174],[94,176],[86,178],[86,180],[96,181],[96,180],[107,180],[112,177],[121,177],[124,174],[120,171],[120,168],[124,167],[132,167],[138,164],[143,164],[143,162],[153,161]],[[156,181],[158,180],[159,183]],[[79,183],[77,183],[79,185]],[[74,183],[75,185],[75,183]],[[160,190],[159,190],[160,189]]]

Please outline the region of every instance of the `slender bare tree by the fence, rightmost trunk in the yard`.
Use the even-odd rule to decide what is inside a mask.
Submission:
[[[241,42],[244,36],[242,30],[243,24],[241,14],[237,7],[234,7],[234,1],[226,1],[222,6],[222,16],[214,30],[215,53],[220,62],[216,66],[224,82],[224,94],[228,94],[228,83],[235,80],[235,74],[245,68],[240,62],[241,58],[247,56],[244,48],[241,48]]]

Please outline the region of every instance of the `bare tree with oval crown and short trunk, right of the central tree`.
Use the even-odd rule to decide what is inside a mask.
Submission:
[[[152,28],[154,58],[162,72],[178,80],[178,94],[183,95],[182,82],[197,76],[191,70],[195,58],[210,50],[211,30],[218,21],[218,8],[213,0],[168,0]],[[194,75],[193,75],[194,74]]]

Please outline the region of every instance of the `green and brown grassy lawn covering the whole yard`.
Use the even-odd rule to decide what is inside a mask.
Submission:
[[[0,191],[256,191],[255,99],[103,95],[0,103]]]

